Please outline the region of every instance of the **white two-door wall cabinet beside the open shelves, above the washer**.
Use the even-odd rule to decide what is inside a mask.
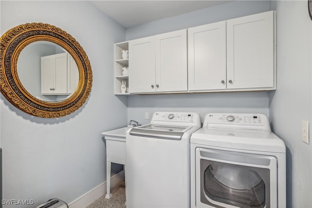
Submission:
[[[129,41],[129,92],[187,92],[187,33]]]

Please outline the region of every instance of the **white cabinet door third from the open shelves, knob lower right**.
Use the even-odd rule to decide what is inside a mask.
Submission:
[[[226,22],[188,29],[189,91],[226,89]]]

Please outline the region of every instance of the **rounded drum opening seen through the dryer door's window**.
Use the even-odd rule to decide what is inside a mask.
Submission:
[[[265,183],[254,170],[211,164],[204,171],[204,191],[217,202],[240,208],[264,208]]]

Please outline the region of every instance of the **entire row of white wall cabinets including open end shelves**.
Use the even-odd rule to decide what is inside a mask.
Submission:
[[[115,94],[120,79],[129,81],[130,94],[276,89],[275,11],[123,44],[115,50],[129,46],[129,64],[115,60]],[[129,66],[129,76],[120,76],[119,65]]]

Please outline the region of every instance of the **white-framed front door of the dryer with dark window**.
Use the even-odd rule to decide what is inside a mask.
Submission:
[[[197,148],[196,208],[276,208],[273,156]]]

